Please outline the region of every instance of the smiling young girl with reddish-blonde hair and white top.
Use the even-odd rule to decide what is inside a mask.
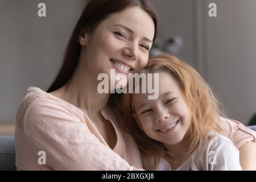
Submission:
[[[195,69],[159,55],[141,73],[159,73],[159,97],[123,94],[122,112],[145,169],[241,170],[238,149],[221,135],[218,102]]]

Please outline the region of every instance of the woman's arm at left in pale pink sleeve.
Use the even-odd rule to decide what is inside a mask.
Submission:
[[[137,170],[55,101],[35,101],[28,109],[23,131],[31,146],[28,150],[35,156],[46,152],[46,165],[55,170]]]

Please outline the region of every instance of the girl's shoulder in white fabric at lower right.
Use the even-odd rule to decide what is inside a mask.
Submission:
[[[224,135],[210,131],[192,155],[192,170],[240,170],[239,150]]]

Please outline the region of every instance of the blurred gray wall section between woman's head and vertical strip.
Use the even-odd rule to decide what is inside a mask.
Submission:
[[[181,36],[183,47],[176,56],[184,59],[191,65],[195,65],[192,0],[151,0],[151,2],[159,15],[160,30],[156,44],[162,45],[169,38]]]

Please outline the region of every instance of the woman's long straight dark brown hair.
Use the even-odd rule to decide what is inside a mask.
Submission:
[[[156,38],[158,32],[158,16],[154,6],[148,0],[91,0],[86,5],[82,12],[74,30],[69,39],[68,46],[65,50],[64,61],[57,74],[55,80],[49,86],[47,92],[53,92],[61,86],[65,85],[73,76],[77,67],[81,46],[79,44],[79,37],[82,32],[92,32],[102,20],[108,18],[110,14],[117,13],[126,9],[127,7],[137,6],[144,10],[152,18],[155,24]]]

